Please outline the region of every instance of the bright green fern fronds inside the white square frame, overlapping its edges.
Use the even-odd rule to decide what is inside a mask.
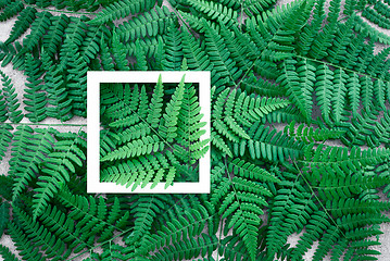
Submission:
[[[102,86],[102,104],[114,102],[102,110],[102,123],[117,133],[117,140],[111,142],[114,147],[101,156],[103,182],[134,190],[148,183],[154,188],[161,181],[167,188],[175,176],[197,178],[197,162],[207,150],[207,140],[200,140],[204,123],[200,122],[197,91],[184,77],[168,97],[161,76],[151,98],[146,85],[141,90],[129,84]]]

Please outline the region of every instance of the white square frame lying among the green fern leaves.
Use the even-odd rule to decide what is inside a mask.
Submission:
[[[163,84],[180,83],[183,75],[185,83],[199,84],[199,103],[202,121],[206,125],[202,128],[205,134],[202,139],[210,139],[211,120],[211,82],[209,71],[89,71],[87,72],[87,192],[88,194],[210,194],[210,148],[199,160],[198,183],[173,183],[164,189],[165,183],[159,183],[153,189],[149,183],[144,188],[100,182],[100,84],[101,83],[158,83],[162,76]]]

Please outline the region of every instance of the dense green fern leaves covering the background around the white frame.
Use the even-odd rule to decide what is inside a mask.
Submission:
[[[390,28],[390,2],[275,3],[1,0],[0,21],[17,16],[1,65],[27,78],[20,100],[0,75],[0,153],[12,151],[0,233],[18,256],[303,260],[315,246],[313,260],[380,257],[390,38],[370,24]],[[212,74],[211,194],[87,195],[86,133],[34,124],[85,117],[88,70],[183,64]]]

